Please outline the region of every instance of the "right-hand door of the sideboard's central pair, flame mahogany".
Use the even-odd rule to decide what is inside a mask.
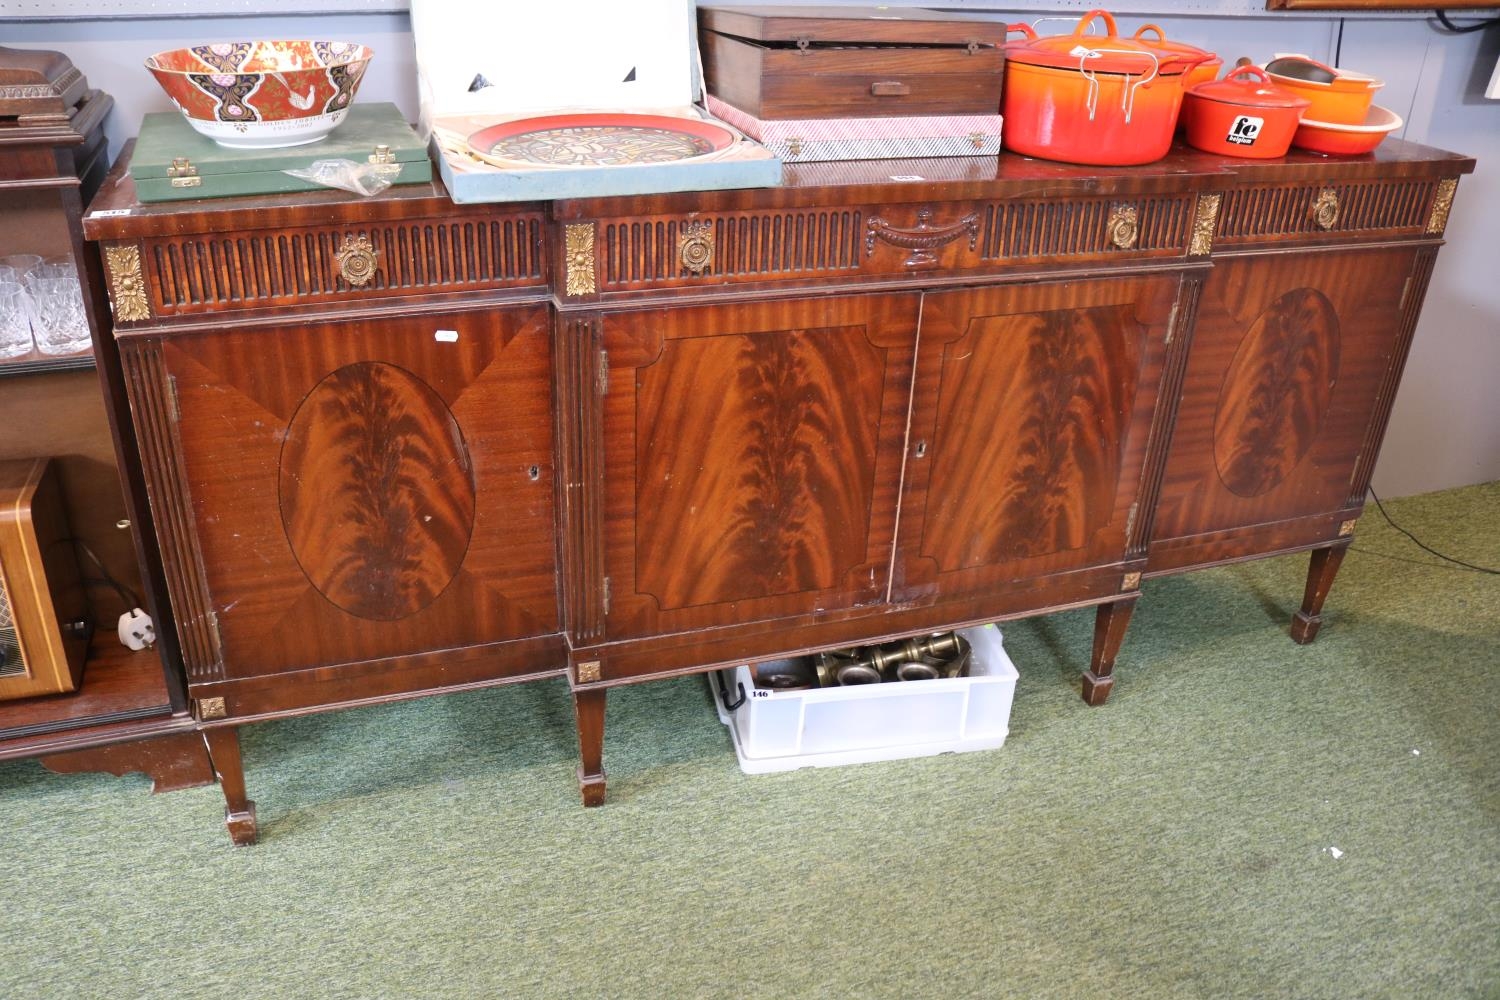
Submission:
[[[924,298],[897,601],[992,595],[1000,613],[1006,588],[1125,559],[1178,286],[1158,274]]]

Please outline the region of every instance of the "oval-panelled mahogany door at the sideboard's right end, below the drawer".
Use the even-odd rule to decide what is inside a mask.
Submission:
[[[1431,250],[1418,247],[1215,264],[1156,507],[1152,571],[1244,555],[1230,541],[1236,529],[1359,505],[1419,307],[1419,256],[1430,265]]]

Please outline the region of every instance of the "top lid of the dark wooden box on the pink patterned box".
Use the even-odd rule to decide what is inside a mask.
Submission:
[[[698,9],[708,31],[798,46],[840,45],[1004,45],[1004,21],[916,7],[720,7]]]

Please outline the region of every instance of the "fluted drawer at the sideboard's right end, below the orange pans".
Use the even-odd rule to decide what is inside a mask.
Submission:
[[[1456,184],[1401,177],[1232,187],[1221,195],[1214,249],[1442,235]]]

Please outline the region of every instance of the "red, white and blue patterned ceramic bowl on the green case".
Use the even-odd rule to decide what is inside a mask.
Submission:
[[[370,49],[352,42],[220,42],[146,60],[188,123],[219,145],[316,142],[364,76]]]

